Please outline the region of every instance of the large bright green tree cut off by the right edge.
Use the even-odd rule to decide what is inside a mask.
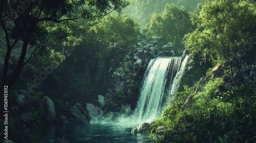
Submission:
[[[198,7],[192,17],[197,29],[185,36],[186,48],[191,53],[210,56],[217,62],[226,60],[235,85],[233,58],[237,58],[237,61],[255,59],[252,57],[255,54],[253,41],[256,40],[255,3],[239,0],[207,1]]]

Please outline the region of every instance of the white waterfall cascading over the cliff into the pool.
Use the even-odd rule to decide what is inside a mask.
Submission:
[[[142,80],[134,121],[151,122],[161,114],[169,95],[174,95],[179,86],[187,58],[182,63],[180,57],[158,57],[150,61]]]

